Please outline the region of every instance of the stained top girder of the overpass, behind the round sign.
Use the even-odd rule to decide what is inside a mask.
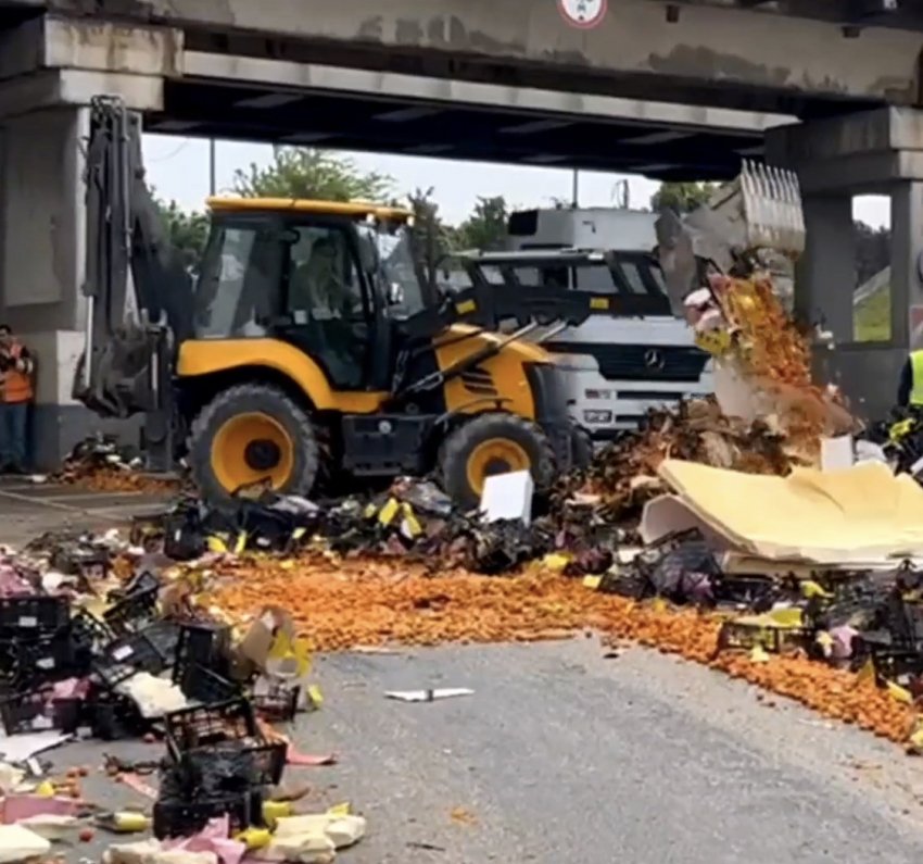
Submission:
[[[516,87],[800,116],[920,98],[923,13],[909,0],[877,15],[882,0],[619,0],[590,30],[567,26],[553,0],[4,3],[10,15],[168,26],[186,50]],[[768,11],[780,7],[801,17]]]

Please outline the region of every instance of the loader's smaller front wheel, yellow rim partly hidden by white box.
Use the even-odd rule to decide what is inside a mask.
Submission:
[[[494,474],[529,471],[535,491],[555,480],[555,460],[545,434],[514,414],[479,414],[453,431],[439,453],[442,485],[453,501],[470,510],[481,502],[484,480]]]

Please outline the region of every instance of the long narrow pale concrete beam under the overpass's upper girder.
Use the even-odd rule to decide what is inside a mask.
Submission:
[[[645,126],[682,126],[690,129],[762,133],[773,126],[789,124],[787,114],[756,111],[731,111],[671,102],[645,102],[590,93],[568,93],[529,87],[501,87],[494,84],[428,78],[421,75],[367,72],[365,70],[324,66],[315,63],[290,63],[249,57],[187,51],[185,79],[210,79],[216,84],[254,84],[278,90],[314,92],[352,92],[362,96],[400,93],[402,98],[422,102],[452,102],[510,111],[542,114],[611,117],[619,123]]]

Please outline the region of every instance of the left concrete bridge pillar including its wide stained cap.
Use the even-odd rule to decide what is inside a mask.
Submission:
[[[166,28],[46,17],[0,34],[0,322],[36,353],[39,469],[108,428],[71,398],[86,317],[87,107],[105,93],[162,109],[181,57],[181,34]]]

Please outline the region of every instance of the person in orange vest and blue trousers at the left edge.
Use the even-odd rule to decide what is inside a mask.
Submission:
[[[26,471],[26,428],[35,390],[35,364],[28,349],[0,324],[0,469]]]

